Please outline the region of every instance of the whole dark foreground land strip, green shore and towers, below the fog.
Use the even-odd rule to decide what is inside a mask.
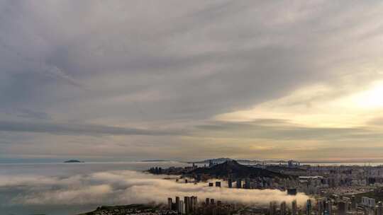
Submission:
[[[255,202],[256,203],[256,202]],[[167,205],[162,207],[142,204],[99,207],[87,215],[383,215],[383,203],[375,199],[355,196],[317,197],[307,199],[306,204],[292,202],[270,202],[269,206],[255,206],[240,203],[227,203],[206,198],[198,202],[198,198],[169,197]]]

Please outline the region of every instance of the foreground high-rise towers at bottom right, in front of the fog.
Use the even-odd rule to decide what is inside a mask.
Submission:
[[[228,204],[206,198],[197,202],[197,197],[168,198],[167,209],[177,214],[201,215],[383,215],[383,203],[375,204],[374,199],[362,197],[357,202],[355,197],[319,197],[308,199],[299,206],[296,200],[287,202],[270,202],[269,207],[255,207],[246,204]]]

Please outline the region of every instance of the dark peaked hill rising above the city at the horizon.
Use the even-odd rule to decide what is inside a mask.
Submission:
[[[219,160],[221,161],[221,160]],[[248,165],[242,165],[238,161],[232,159],[226,160],[223,163],[213,165],[211,168],[196,168],[188,174],[208,174],[216,178],[226,178],[228,175],[233,175],[235,178],[290,178],[291,175],[272,172],[270,170],[255,168]]]

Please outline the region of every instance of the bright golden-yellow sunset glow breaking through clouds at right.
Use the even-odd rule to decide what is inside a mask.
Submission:
[[[326,86],[309,86],[277,100],[217,115],[216,120],[246,122],[257,119],[284,119],[309,127],[357,127],[383,116],[383,83],[372,84],[365,91],[327,99],[336,91]],[[313,99],[314,98],[314,99]],[[318,100],[315,100],[318,98]]]

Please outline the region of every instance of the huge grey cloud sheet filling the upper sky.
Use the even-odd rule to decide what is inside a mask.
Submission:
[[[367,52],[360,61],[373,56],[368,52],[373,49],[357,46],[354,37],[339,43],[331,39],[338,41],[343,30],[345,35],[375,30],[373,23],[379,20],[377,13],[355,18],[353,14],[360,13],[348,4],[46,3],[44,7],[26,1],[4,3],[2,40],[21,57],[9,50],[1,52],[4,82],[11,83],[4,85],[7,93],[1,100],[50,107],[57,115],[62,112],[77,120],[87,115],[200,120],[278,98],[317,80],[326,82],[328,76],[338,80],[343,74],[333,74],[333,68],[356,53],[345,47],[353,44],[361,53]],[[378,8],[361,6],[363,11]],[[15,12],[18,9],[23,16]],[[271,16],[275,13],[279,16]],[[357,21],[356,29],[343,24],[351,21]],[[39,53],[36,57],[34,50]],[[331,54],[333,50],[337,54]],[[20,59],[33,60],[21,64]],[[87,90],[73,88],[77,83]],[[148,89],[162,99],[105,103]],[[138,115],[139,109],[145,114]]]

